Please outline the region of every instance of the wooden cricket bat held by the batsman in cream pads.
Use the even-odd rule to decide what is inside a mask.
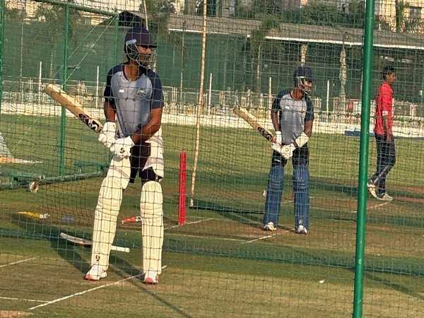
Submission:
[[[81,105],[75,98],[72,98],[64,90],[61,90],[58,86],[53,84],[49,84],[45,88],[45,93],[52,97],[54,100],[59,102],[60,105],[69,110],[75,117],[81,119],[81,122],[86,124],[88,128],[91,130],[100,133],[102,131],[102,123],[93,118],[88,112],[83,109],[83,105]]]

